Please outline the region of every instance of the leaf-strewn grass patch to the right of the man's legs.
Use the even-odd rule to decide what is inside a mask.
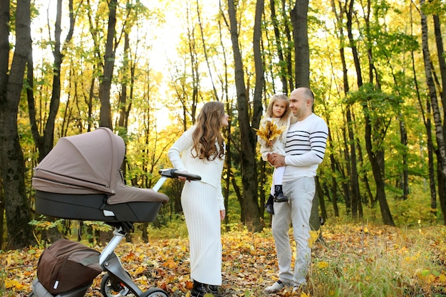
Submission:
[[[339,227],[313,249],[311,296],[446,296],[445,227]]]

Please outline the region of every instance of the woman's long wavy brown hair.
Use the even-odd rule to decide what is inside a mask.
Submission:
[[[224,114],[224,104],[221,102],[213,101],[203,105],[197,117],[197,127],[192,134],[194,140],[192,149],[197,152],[194,157],[208,161],[217,157],[223,159],[224,138],[221,128]]]

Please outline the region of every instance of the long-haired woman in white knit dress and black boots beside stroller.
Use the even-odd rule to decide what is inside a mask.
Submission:
[[[218,286],[222,285],[220,220],[224,219],[225,210],[221,182],[224,163],[221,129],[229,125],[228,118],[223,103],[205,103],[196,125],[184,132],[169,150],[173,167],[202,177],[199,182],[186,182],[181,194],[189,232],[193,297],[202,297],[206,293],[218,295]]]

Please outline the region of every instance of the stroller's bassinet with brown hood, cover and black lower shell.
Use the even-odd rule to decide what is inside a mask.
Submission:
[[[128,187],[120,174],[125,143],[111,130],[62,137],[34,169],[36,212],[63,219],[153,222],[165,194]]]

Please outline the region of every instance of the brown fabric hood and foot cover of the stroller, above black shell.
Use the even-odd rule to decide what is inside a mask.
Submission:
[[[108,194],[108,204],[167,202],[165,194],[123,183],[124,156],[124,140],[105,127],[62,137],[34,169],[33,188],[59,194]]]

